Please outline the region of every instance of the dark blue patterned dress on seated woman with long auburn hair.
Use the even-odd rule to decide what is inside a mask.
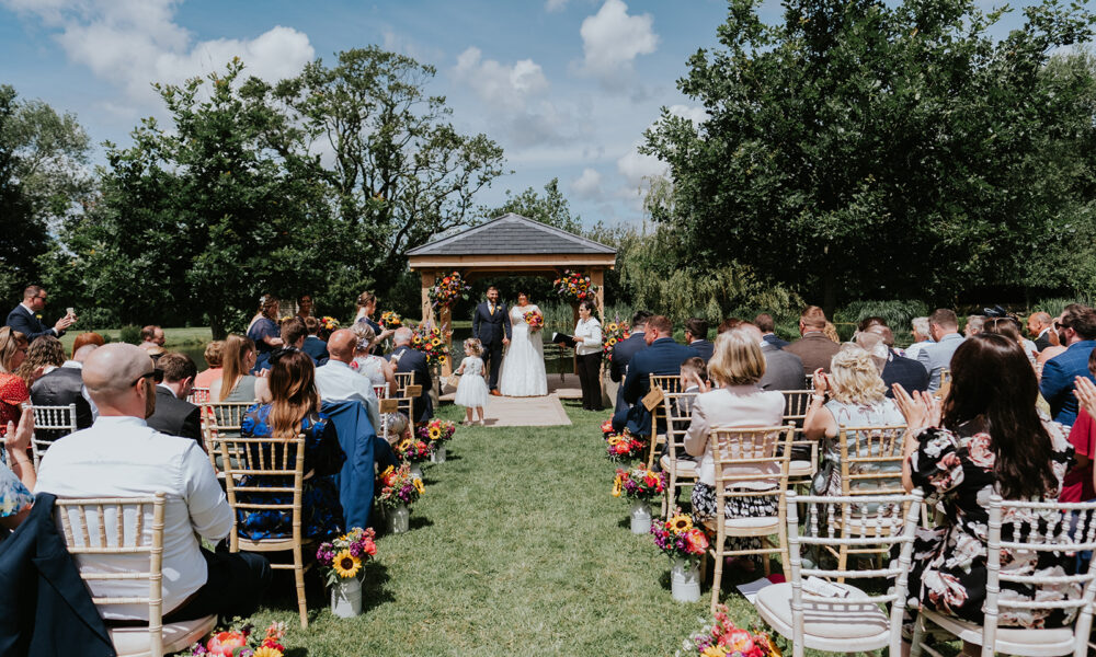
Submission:
[[[271,404],[255,405],[243,417],[241,434],[244,438],[262,438],[271,435],[267,419]],[[326,539],[343,531],[342,506],[339,504],[339,486],[335,475],[346,460],[339,447],[339,435],[324,414],[319,419],[306,417],[301,420],[305,435],[305,473],[312,476],[305,480],[301,497],[301,531],[305,538]],[[252,449],[259,449],[252,446]],[[290,458],[290,463],[293,459]],[[241,486],[276,487],[285,486],[286,477],[254,475],[246,476]],[[292,482],[289,482],[292,486]],[[241,504],[293,504],[292,493],[256,494],[240,493]],[[252,541],[293,535],[293,511],[237,509],[237,526],[240,537]]]

